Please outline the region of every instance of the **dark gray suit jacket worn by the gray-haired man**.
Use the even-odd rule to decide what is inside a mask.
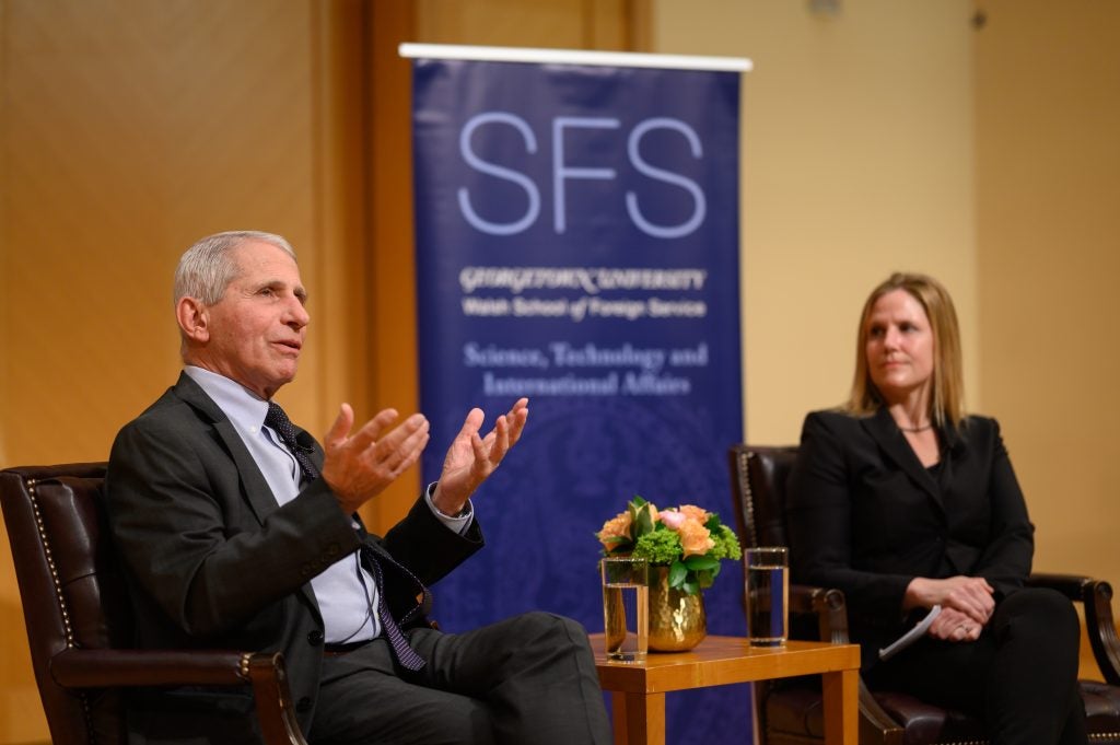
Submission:
[[[323,451],[307,432],[302,444]],[[297,716],[309,730],[324,625],[309,580],[363,544],[388,551],[430,585],[482,547],[477,522],[448,530],[423,500],[384,538],[354,530],[323,479],[278,506],[232,422],[186,374],[116,436],[106,497],[144,648],[282,652]],[[421,588],[386,567],[394,617],[417,612]],[[177,689],[137,693],[132,742],[255,742],[249,693]]]

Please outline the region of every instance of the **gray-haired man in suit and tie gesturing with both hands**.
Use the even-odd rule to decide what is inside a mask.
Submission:
[[[482,547],[470,495],[517,441],[522,399],[479,434],[472,410],[439,481],[384,538],[355,515],[412,466],[428,422],[386,409],[354,430],[342,404],[323,447],[273,395],[296,375],[310,317],[288,242],[221,233],[175,278],[185,370],[110,457],[112,531],[138,643],[278,651],[311,743],[607,743],[584,630],[531,613],[463,634],[430,627],[427,585]],[[253,743],[251,702],[225,690],[136,693],[140,743]]]

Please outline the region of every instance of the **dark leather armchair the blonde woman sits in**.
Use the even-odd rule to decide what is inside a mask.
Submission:
[[[797,448],[736,445],[730,449],[731,496],[744,548],[788,546],[785,485]],[[1093,656],[1107,682],[1081,681],[1093,743],[1120,743],[1120,640],[1112,618],[1112,587],[1072,575],[1034,574],[1030,585],[1052,587],[1084,606]],[[848,616],[838,589],[790,586],[790,628],[799,639],[848,643]],[[759,742],[809,745],[823,739],[823,709],[812,681],[756,683]],[[983,745],[983,724],[913,696],[859,683],[859,742],[864,745]]]

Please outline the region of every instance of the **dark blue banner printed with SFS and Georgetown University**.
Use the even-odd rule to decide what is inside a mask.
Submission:
[[[475,499],[486,549],[435,588],[445,630],[544,609],[603,631],[595,533],[635,495],[734,524],[739,81],[416,60],[424,478],[470,407],[487,429],[519,397],[531,412]],[[741,597],[725,561],[710,633],[745,634]],[[745,686],[668,704],[671,743],[749,739]]]

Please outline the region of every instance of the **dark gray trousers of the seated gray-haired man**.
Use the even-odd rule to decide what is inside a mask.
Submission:
[[[388,642],[324,660],[311,745],[609,745],[582,626],[528,613],[464,634],[409,633],[426,660],[393,663]]]

